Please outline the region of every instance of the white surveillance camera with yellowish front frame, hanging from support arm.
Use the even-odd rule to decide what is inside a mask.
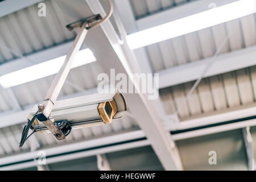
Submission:
[[[37,110],[38,105],[35,105],[28,120],[34,117]],[[71,129],[109,124],[122,118],[126,110],[126,101],[121,92],[100,93],[55,102],[51,118],[67,136]],[[41,133],[50,132],[38,118],[35,118],[31,129]]]

